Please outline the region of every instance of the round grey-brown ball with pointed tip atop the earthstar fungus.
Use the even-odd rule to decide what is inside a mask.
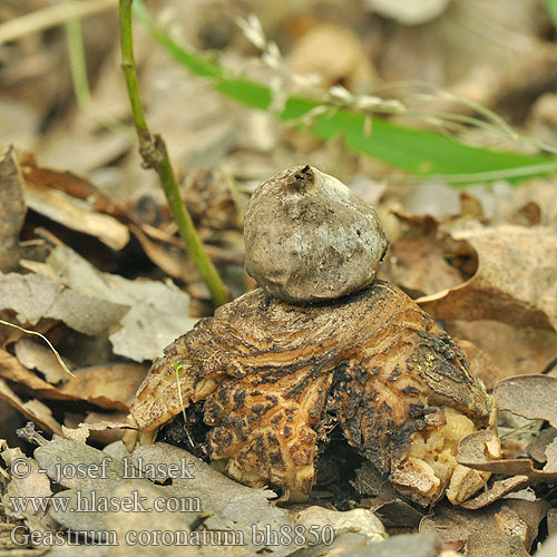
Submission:
[[[333,300],[368,286],[389,245],[375,211],[311,166],[275,174],[257,187],[244,241],[247,273],[292,303]]]

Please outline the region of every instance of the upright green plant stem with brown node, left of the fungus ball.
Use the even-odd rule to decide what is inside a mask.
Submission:
[[[182,240],[184,240],[192,260],[211,292],[213,303],[215,306],[219,306],[228,302],[228,291],[207,255],[197,235],[192,217],[182,201],[165,141],[159,135],[152,136],[147,127],[139,97],[139,86],[137,85],[137,72],[134,59],[131,2],[133,0],[120,0],[121,68],[128,88],[137,136],[139,138],[139,154],[144,160],[144,167],[154,168],[158,174],[168,205],[178,224]]]

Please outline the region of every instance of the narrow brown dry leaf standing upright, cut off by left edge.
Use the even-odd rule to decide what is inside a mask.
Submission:
[[[27,213],[23,178],[12,147],[0,160],[0,271],[9,273],[18,266],[19,234]]]

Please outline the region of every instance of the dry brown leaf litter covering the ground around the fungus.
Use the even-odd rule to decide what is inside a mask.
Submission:
[[[280,41],[281,49],[284,43],[291,52],[285,59],[291,60],[294,70],[305,74],[312,68],[323,68],[325,87],[328,79],[333,80],[332,85],[341,79],[350,89],[365,88],[370,81],[381,84],[389,76],[409,79],[443,75],[444,85],[452,88],[452,92],[465,91],[472,100],[480,100],[510,118],[519,118],[514,107],[525,107],[529,111],[522,115],[521,124],[536,137],[555,141],[553,94],[541,95],[531,109],[526,100],[529,86],[544,89],[545,76],[553,75],[553,70],[546,70],[554,63],[547,41],[548,20],[540,16],[534,2],[525,2],[520,8],[505,3],[501,9],[501,2],[482,7],[475,1],[465,7],[453,0],[452,7],[446,11],[439,8],[432,16],[419,7],[417,17],[429,20],[427,36],[417,33],[411,26],[397,23],[407,16],[385,12],[382,19],[377,19],[379,4],[368,2],[370,11],[365,13],[358,11],[362,8],[332,7],[332,19],[340,21],[336,27],[305,16],[295,22],[285,22],[278,13],[281,10],[265,2],[253,9],[260,13],[265,30],[286,29]],[[174,28],[172,25],[169,28],[178,39],[185,33],[190,43],[207,42],[213,48],[218,38],[217,49],[224,49],[227,65],[244,70],[245,51],[237,47],[242,43],[238,32],[222,25],[219,10],[212,6],[203,9],[193,6],[186,10],[175,2],[169,2],[168,9],[170,12],[165,17],[174,21]],[[420,10],[423,11],[420,13]],[[470,23],[475,10],[488,10],[491,16],[483,18],[485,21],[476,18]],[[497,11],[505,12],[502,26],[494,17]],[[363,18],[371,18],[375,33],[365,36],[364,41],[361,37],[367,31],[359,28],[353,32],[353,21]],[[466,39],[468,31],[459,31],[455,43],[446,48],[447,28],[453,29],[451,18],[465,22],[462,29],[480,28],[479,35],[475,31],[478,53],[472,61]],[[185,29],[179,28],[182,20],[187,21]],[[104,21],[114,23],[110,18]],[[524,22],[520,33],[515,32],[512,21]],[[488,22],[491,27],[486,31]],[[384,33],[385,26],[394,26],[394,32]],[[101,30],[102,27],[109,28],[101,25]],[[378,30],[383,32],[381,49],[377,46]],[[55,29],[49,36],[42,35],[42,39],[52,41],[57,32]],[[106,37],[102,32],[99,37]],[[501,45],[515,46],[512,56],[486,47],[485,37],[492,33],[499,37]],[[532,62],[515,53],[519,51],[515,42],[519,35],[520,40],[529,45],[531,59],[541,68],[532,72],[526,85],[525,62],[530,66]],[[351,58],[339,74],[340,78],[333,75],[335,68],[326,66],[325,48],[315,51],[306,47],[315,37],[323,36],[350,36],[346,48]],[[477,185],[459,194],[442,180],[410,187],[393,186],[389,179],[379,182],[381,177],[390,178],[392,170],[354,157],[340,141],[317,145],[292,130],[281,130],[270,115],[253,115],[224,101],[205,82],[185,76],[166,55],[154,56],[152,38],[139,26],[137,38],[138,59],[145,69],[140,76],[141,87],[152,109],[149,121],[172,134],[165,137],[184,178],[184,197],[194,206],[202,237],[235,295],[253,287],[242,272],[243,245],[238,228],[245,204],[237,203],[238,197],[245,201],[261,179],[278,168],[292,166],[301,154],[303,163],[309,154],[325,172],[339,175],[359,190],[362,176],[364,179],[370,175],[378,177],[370,183],[369,190],[360,195],[374,197],[378,212],[389,224],[392,244],[383,264],[383,277],[417,299],[450,333],[470,360],[472,372],[483,379],[494,394],[499,413],[497,427],[494,422],[491,431],[462,440],[459,451],[461,463],[490,471],[492,478],[486,491],[458,507],[440,501],[422,509],[397,492],[388,477],[378,476],[371,462],[358,461],[346,468],[354,456],[339,455],[339,460],[331,466],[342,468],[340,476],[345,475],[346,482],[325,485],[326,488],[316,494],[313,506],[289,507],[276,504],[268,489],[235,483],[183,448],[164,443],[143,447],[128,458],[138,467],[154,463],[166,469],[184,458],[195,465],[195,480],[124,478],[121,458],[125,453],[117,439],[127,427],[123,421],[149,362],[162,354],[165,345],[189,330],[198,316],[209,314],[211,309],[206,304],[206,290],[185,257],[185,246],[175,236],[166,203],[154,189],[153,179],[138,168],[126,128],[116,135],[84,113],[69,110],[60,115],[52,100],[55,89],[45,80],[37,82],[35,100],[31,96],[18,102],[31,115],[36,127],[41,120],[45,123],[47,131],[39,136],[35,154],[48,166],[39,166],[35,154],[19,155],[17,149],[7,150],[0,164],[0,207],[3,216],[10,216],[0,223],[3,273],[0,275],[0,319],[46,334],[77,380],[61,372],[40,340],[0,325],[0,399],[17,409],[20,426],[31,420],[43,436],[53,434],[52,440],[47,440],[28,431],[20,448],[2,446],[7,463],[2,476],[9,476],[2,482],[4,516],[8,515],[2,519],[10,520],[8,530],[13,524],[23,524],[30,531],[41,534],[65,531],[68,539],[67,529],[106,529],[109,524],[119,538],[138,529],[183,529],[189,534],[204,528],[238,529],[247,535],[254,520],[276,527],[306,527],[310,521],[322,520],[334,527],[332,546],[317,544],[301,548],[284,544],[255,548],[247,545],[226,551],[208,546],[201,549],[165,547],[162,551],[160,547],[149,546],[146,554],[240,556],[263,549],[274,555],[303,556],[333,553],[378,557],[553,555],[555,519],[548,506],[555,506],[551,486],[557,479],[557,446],[551,427],[556,421],[556,399],[551,393],[557,361],[555,183],[537,179],[516,189],[505,183],[492,188]],[[89,37],[86,43],[98,40]],[[114,47],[110,40],[104,40],[99,52],[108,52]],[[16,41],[10,46],[14,56],[4,57],[6,66],[12,70],[7,74],[7,80],[13,91],[23,90],[18,89],[21,84],[13,77],[14,67],[29,61],[26,52],[36,48],[31,42],[20,48],[23,42]],[[60,45],[59,41],[58,47]],[[444,46],[431,49],[431,45]],[[400,51],[405,55],[398,56]],[[444,58],[449,52],[450,65]],[[346,62],[341,55],[340,50],[331,52],[335,60]],[[461,63],[456,65],[456,59]],[[102,107],[104,116],[125,120],[127,102],[117,60],[114,48],[100,60],[98,82],[91,94],[96,106]],[[31,75],[45,75],[45,68],[51,68],[51,58],[35,58],[22,65],[21,71],[35,65]],[[68,98],[69,78],[59,81],[66,91],[60,98]],[[358,91],[351,91],[354,92]],[[2,95],[1,106],[11,107],[9,98]],[[188,109],[184,110],[184,106]],[[430,106],[470,114],[469,107],[460,106],[450,96],[432,96]],[[10,118],[13,116],[12,110],[6,113]],[[49,113],[55,115],[50,129]],[[179,125],[176,115],[179,115]],[[4,129],[4,125],[6,129],[13,129],[10,121],[0,123],[0,129]],[[492,141],[488,133],[481,135],[476,130],[476,135],[483,143]],[[17,133],[6,131],[3,136],[9,140],[28,137],[28,126],[18,126]],[[211,164],[213,173],[202,169],[195,176],[189,172],[205,164]],[[56,166],[67,170],[56,170]],[[524,418],[512,418],[509,412]],[[7,437],[18,424],[7,422],[0,427],[2,437]],[[195,427],[203,433],[203,423]],[[179,423],[173,434],[177,439],[187,437]],[[333,439],[334,436],[333,431]],[[35,453],[32,439],[41,444]],[[187,439],[184,446],[190,448]],[[106,480],[62,478],[59,483],[53,481],[57,463],[95,466],[107,455],[111,460]],[[27,478],[16,478],[11,467],[16,459],[23,459],[30,466]],[[48,472],[40,472],[39,468]],[[339,478],[339,473],[333,477]],[[51,507],[48,512],[10,510],[10,497],[49,498],[55,494],[58,498],[70,496],[75,501],[78,491],[81,495],[96,491],[118,500],[137,491],[149,504],[156,497],[165,500],[198,497],[203,509],[184,514],[121,509],[76,514],[56,512]],[[342,497],[338,497],[339,491]],[[8,531],[6,524],[2,528]],[[389,539],[380,541],[387,535]],[[540,540],[543,545],[537,550]],[[84,554],[107,553],[106,548],[87,547],[84,536],[79,541]],[[0,544],[2,548],[13,548],[10,541]],[[75,549],[57,547],[50,549],[50,554],[74,555]],[[110,548],[110,554],[126,555],[130,550],[120,545]],[[134,553],[138,550],[136,546]]]

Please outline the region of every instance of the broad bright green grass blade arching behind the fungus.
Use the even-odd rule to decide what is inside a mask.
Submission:
[[[208,78],[217,90],[244,105],[268,110],[272,91],[246,78],[237,78],[218,63],[185,50],[158,29],[149,19],[143,3],[134,2],[136,16],[148,27],[157,41],[193,74]],[[292,96],[282,111],[284,121],[297,121],[320,101]],[[452,184],[508,179],[517,183],[534,176],[557,173],[557,158],[501,153],[471,147],[457,139],[392,124],[373,117],[371,135],[365,135],[365,116],[349,109],[328,110],[312,118],[311,133],[321,139],[343,136],[346,145],[365,155],[383,160],[417,177],[439,176]]]

